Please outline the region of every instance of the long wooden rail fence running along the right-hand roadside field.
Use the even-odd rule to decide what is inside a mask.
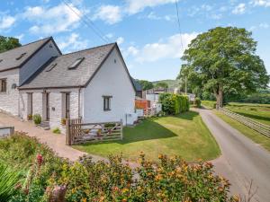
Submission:
[[[220,111],[222,111],[224,114],[226,114],[230,118],[236,119],[238,122],[246,125],[247,127],[250,127],[256,130],[260,134],[270,137],[270,126],[257,122],[254,119],[244,117],[242,115],[239,115],[238,113],[232,112],[224,108],[220,108]]]

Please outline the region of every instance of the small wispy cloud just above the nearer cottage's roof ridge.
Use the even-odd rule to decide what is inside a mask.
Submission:
[[[69,36],[62,38],[58,42],[58,47],[64,49],[64,52],[72,52],[79,49],[85,49],[89,45],[88,40],[82,40],[77,33],[71,33]]]

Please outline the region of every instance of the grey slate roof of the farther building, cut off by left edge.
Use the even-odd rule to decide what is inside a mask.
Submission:
[[[22,47],[13,48],[0,53],[0,71],[22,66],[39,48],[41,48],[50,39],[51,38],[49,37],[43,40],[37,40],[29,44],[25,44]],[[22,58],[16,59],[23,53],[25,53],[25,55]]]

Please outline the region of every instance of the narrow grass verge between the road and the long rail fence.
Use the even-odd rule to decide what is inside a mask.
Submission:
[[[251,129],[250,127],[246,127],[245,125],[239,123],[235,119],[229,118],[227,115],[214,110],[215,114],[220,117],[220,119],[223,119],[225,122],[227,122],[231,127],[236,128],[239,132],[241,132],[243,135],[249,137],[254,142],[256,142],[259,145],[262,145],[266,148],[266,150],[270,151],[270,138],[266,137],[262,134],[257,133],[255,130]]]

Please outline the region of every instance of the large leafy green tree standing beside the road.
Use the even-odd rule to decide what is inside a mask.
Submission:
[[[184,51],[179,77],[187,75],[192,87],[212,92],[222,107],[223,94],[255,92],[269,82],[266,67],[256,55],[251,32],[217,27],[199,34]]]

